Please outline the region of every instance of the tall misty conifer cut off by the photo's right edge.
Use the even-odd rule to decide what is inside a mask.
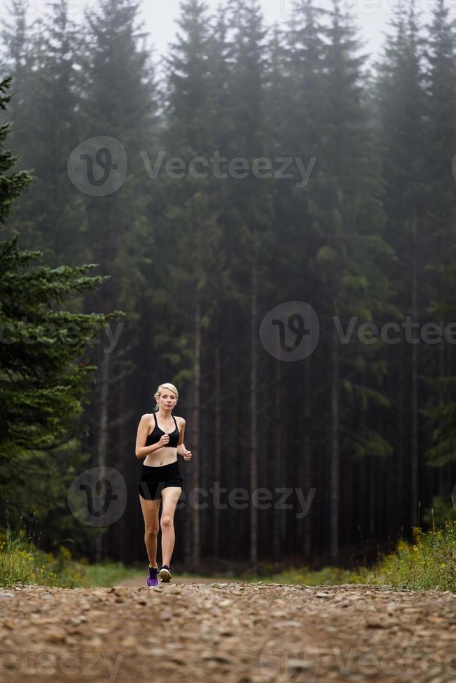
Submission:
[[[454,285],[456,256],[455,165],[456,123],[456,51],[454,26],[449,21],[445,0],[438,0],[429,26],[427,62],[427,153],[426,174],[428,213],[426,221],[426,273],[429,278],[428,309],[439,321],[441,330],[455,319]],[[452,169],[453,164],[453,169]],[[453,170],[453,173],[450,171]],[[427,461],[439,468],[439,493],[449,502],[449,475],[446,466],[455,460],[454,425],[455,385],[452,375],[451,345],[441,342],[431,346],[428,363],[428,387],[434,390],[423,414],[434,430]],[[429,366],[428,366],[429,367]]]

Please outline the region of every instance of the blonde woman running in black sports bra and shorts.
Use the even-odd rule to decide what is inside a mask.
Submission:
[[[190,460],[192,452],[185,448],[185,420],[174,417],[178,391],[174,384],[160,384],[154,394],[155,412],[143,415],[136,436],[136,457],[145,458],[141,466],[138,492],[144,516],[144,542],[149,556],[149,576],[146,585],[155,588],[172,578],[171,556],[174,549],[174,511],[182,493],[182,477],[177,455]],[[173,422],[174,421],[174,422]],[[158,510],[163,501],[160,527],[162,530],[162,567],[157,565]]]

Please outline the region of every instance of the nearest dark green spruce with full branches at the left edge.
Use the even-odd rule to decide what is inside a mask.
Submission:
[[[0,83],[0,109],[6,110],[11,77]],[[12,171],[17,157],[4,143],[10,124],[0,127],[0,224],[30,185],[29,171]],[[93,264],[33,268],[42,252],[20,250],[18,235],[0,243],[0,481],[1,498],[30,521],[39,512],[43,528],[59,527],[62,497],[77,463],[84,462],[79,417],[92,371],[84,355],[98,330],[119,312],[73,314],[63,307],[70,296],[92,291],[102,277],[88,277]],[[61,474],[59,458],[71,460]],[[33,478],[33,486],[24,486]],[[54,512],[56,516],[54,516]],[[66,512],[66,511],[65,511]],[[2,513],[3,514],[3,513]],[[60,530],[70,528],[68,519]],[[45,532],[47,537],[47,532]]]

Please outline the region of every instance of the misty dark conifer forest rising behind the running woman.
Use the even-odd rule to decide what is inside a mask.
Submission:
[[[397,3],[372,55],[342,0],[281,24],[182,0],[159,55],[138,0],[79,22],[6,0],[0,525],[144,560],[161,383],[192,452],[185,567],[349,567],[454,514],[450,4]],[[70,496],[93,468],[121,504],[104,523]]]

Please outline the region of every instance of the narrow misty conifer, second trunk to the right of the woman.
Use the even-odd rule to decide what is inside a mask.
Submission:
[[[208,106],[206,109],[206,133],[211,141],[211,155],[219,153],[220,157],[228,157],[229,141],[234,132],[233,102],[229,95],[231,79],[230,64],[233,54],[233,40],[229,31],[229,12],[226,6],[220,6],[211,24],[208,36]],[[218,227],[217,264],[211,275],[211,296],[205,297],[205,309],[208,314],[209,325],[206,330],[203,358],[213,361],[206,363],[207,380],[203,382],[209,395],[213,396],[213,413],[207,413],[208,420],[215,426],[213,443],[213,462],[206,459],[206,471],[209,476],[202,477],[202,484],[206,486],[220,485],[222,479],[231,478],[233,468],[233,450],[227,443],[229,433],[230,394],[224,376],[229,368],[229,358],[225,353],[227,337],[233,337],[233,332],[227,330],[227,319],[230,307],[236,298],[234,283],[231,279],[229,263],[229,233],[233,220],[231,195],[226,178],[218,178],[215,172],[208,177],[208,194],[211,202],[211,213],[215,216]],[[227,332],[229,332],[227,334]],[[236,332],[235,332],[236,335]],[[204,392],[203,388],[203,392]],[[228,456],[227,456],[228,454]],[[204,470],[203,470],[204,471]],[[218,482],[218,484],[216,484]],[[220,507],[216,505],[212,511],[212,553],[218,557],[222,552],[222,515]]]

